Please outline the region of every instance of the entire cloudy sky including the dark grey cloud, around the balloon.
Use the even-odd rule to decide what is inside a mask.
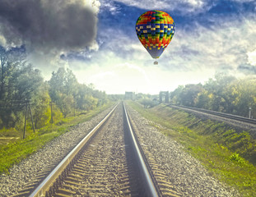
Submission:
[[[158,65],[135,31],[150,10],[175,21]],[[255,76],[255,12],[255,0],[1,0],[0,45],[26,48],[45,80],[65,66],[107,94],[158,94],[217,73]]]

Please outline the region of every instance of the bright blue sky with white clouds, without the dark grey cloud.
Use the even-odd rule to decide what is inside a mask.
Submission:
[[[79,0],[73,2],[79,4]],[[20,44],[32,46],[27,47],[30,62],[43,70],[45,79],[58,66],[67,66],[79,82],[93,83],[107,94],[125,91],[158,94],[161,90],[174,90],[178,85],[204,83],[220,72],[236,77],[256,75],[255,1],[80,2],[93,7],[97,18],[94,36],[83,45],[59,44],[58,50],[51,50],[47,44],[42,49],[40,44],[31,44],[30,39],[20,40]],[[153,65],[154,60],[135,32],[138,16],[153,9],[168,12],[175,21],[175,35],[158,65]],[[90,22],[85,20],[85,23]],[[10,43],[7,36],[2,38],[2,45]],[[53,46],[53,41],[49,43]]]

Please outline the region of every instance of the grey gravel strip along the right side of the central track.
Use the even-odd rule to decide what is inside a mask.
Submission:
[[[135,128],[139,128],[135,129],[138,140],[146,144],[142,149],[150,150],[181,196],[240,196],[236,190],[213,178],[196,158],[184,152],[181,144],[151,126],[152,121],[133,108],[128,107],[128,112]]]

